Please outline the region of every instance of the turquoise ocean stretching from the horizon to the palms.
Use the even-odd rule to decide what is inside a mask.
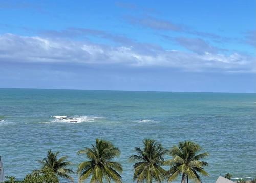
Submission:
[[[121,149],[123,182],[132,182],[127,159],[144,138],[166,148],[193,140],[210,153],[204,182],[227,172],[256,177],[255,102],[250,93],[0,89],[0,155],[5,174],[18,178],[39,168],[49,149],[68,155],[76,170],[84,161],[76,152],[104,138]]]

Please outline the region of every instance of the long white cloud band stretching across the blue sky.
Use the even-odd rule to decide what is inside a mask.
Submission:
[[[245,54],[197,54],[139,45],[109,46],[65,38],[4,34],[0,35],[0,62],[119,64],[178,68],[189,72],[256,72],[255,58]]]

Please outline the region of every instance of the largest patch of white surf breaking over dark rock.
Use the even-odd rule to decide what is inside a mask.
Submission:
[[[54,122],[66,122],[66,123],[82,123],[82,122],[93,122],[97,119],[103,119],[104,117],[98,116],[52,116],[55,119]]]

